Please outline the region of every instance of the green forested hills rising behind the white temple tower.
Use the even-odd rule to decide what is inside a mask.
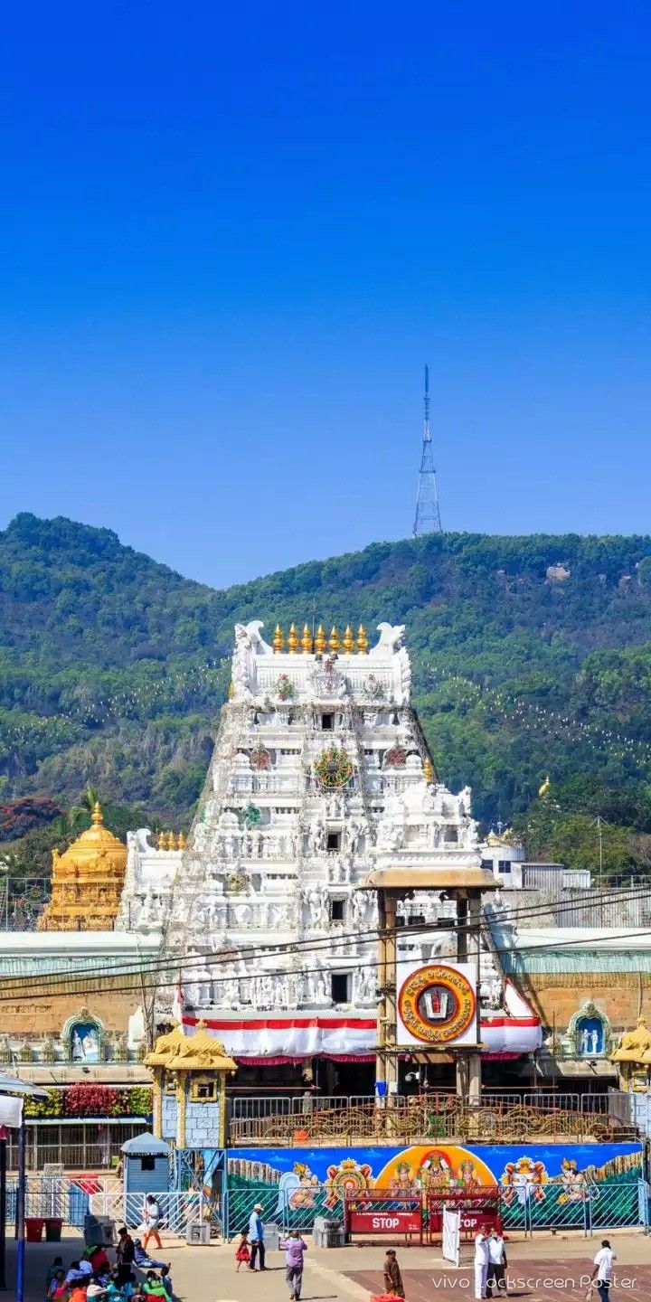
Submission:
[[[90,781],[185,824],[233,624],[312,609],[406,624],[440,775],[470,783],[486,822],[519,818],[548,848],[549,772],[553,807],[625,827],[629,857],[630,828],[651,831],[651,538],[430,535],[214,591],[108,530],[17,516],[0,534],[1,798],[66,803]]]

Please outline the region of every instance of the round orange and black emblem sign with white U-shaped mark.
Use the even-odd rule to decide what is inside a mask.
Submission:
[[[431,963],[410,973],[398,992],[398,1017],[423,1044],[449,1044],[474,1026],[477,997],[465,973]]]

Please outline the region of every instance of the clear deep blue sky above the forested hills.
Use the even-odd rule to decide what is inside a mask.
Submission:
[[[224,585],[647,531],[648,4],[13,5],[0,525]]]

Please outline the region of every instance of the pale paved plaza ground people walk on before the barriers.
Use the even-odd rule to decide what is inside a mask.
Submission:
[[[613,1302],[648,1302],[651,1295],[651,1241],[643,1234],[611,1232],[617,1253],[617,1285]],[[310,1240],[307,1241],[310,1243]],[[510,1295],[527,1302],[566,1299],[585,1302],[592,1258],[600,1236],[592,1240],[544,1234],[509,1245]],[[8,1240],[8,1292],[13,1292],[16,1245]],[[26,1302],[43,1302],[46,1269],[56,1255],[52,1243],[29,1243],[26,1253]],[[60,1253],[69,1263],[82,1251],[78,1236],[62,1240]],[[466,1302],[474,1294],[471,1249],[462,1249],[461,1267],[441,1262],[436,1249],[398,1247],[408,1302]],[[284,1254],[270,1253],[270,1269],[253,1276],[236,1273],[234,1245],[186,1247],[167,1245],[161,1259],[172,1263],[180,1302],[286,1302]],[[312,1250],[306,1255],[303,1302],[368,1302],[383,1292],[383,1245]],[[595,1302],[599,1302],[595,1294]]]

